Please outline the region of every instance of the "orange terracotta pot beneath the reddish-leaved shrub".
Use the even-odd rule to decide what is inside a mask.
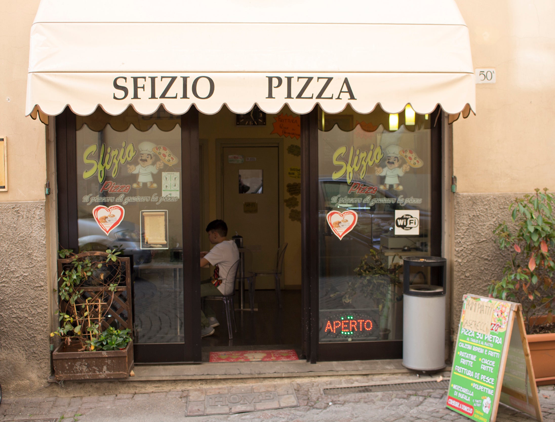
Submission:
[[[536,385],[555,383],[555,333],[527,334]]]

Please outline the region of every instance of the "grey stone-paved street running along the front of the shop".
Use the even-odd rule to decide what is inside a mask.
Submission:
[[[123,383],[129,389],[115,397],[112,392],[100,393],[105,384],[95,384],[98,385],[99,393],[88,396],[87,399],[84,396],[19,399],[9,396],[9,391],[4,391],[6,400],[0,405],[0,422],[54,422],[62,415],[64,419],[58,422],[183,422],[184,418],[192,422],[468,422],[469,419],[465,416],[445,408],[446,388],[441,383],[433,384],[437,388],[421,391],[416,391],[415,386],[407,385],[406,390],[398,391],[324,394],[324,390],[329,388],[378,385],[385,382],[405,383],[421,379],[422,377],[418,378],[415,374],[359,374],[289,380],[210,380],[195,386],[186,384],[185,381],[180,381],[181,384],[172,381],[167,384],[171,385],[167,390],[158,388],[147,391],[141,388],[137,390],[141,394],[133,392],[132,384]],[[428,379],[433,380],[432,377]],[[61,391],[53,385],[47,390]],[[71,387],[66,385],[63,391],[65,395],[69,395]],[[267,399],[258,402],[248,396],[266,393],[269,394]],[[227,394],[226,401],[222,398],[216,401],[215,396],[222,394]],[[243,400],[245,395],[247,399]],[[295,404],[295,400],[296,406],[286,407]],[[555,422],[554,387],[543,386],[539,400],[543,420]],[[51,407],[51,403],[54,406]],[[224,404],[228,413],[220,414],[221,409],[218,406]],[[269,409],[278,404],[281,408]],[[43,405],[46,407],[43,408]],[[44,409],[48,411],[47,414],[33,413]],[[532,422],[534,419],[518,410],[499,405],[497,421]]]

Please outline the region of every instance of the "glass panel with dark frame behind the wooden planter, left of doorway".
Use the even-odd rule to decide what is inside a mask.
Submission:
[[[60,167],[72,180],[58,178],[60,193],[66,192],[67,204],[77,203],[77,212],[60,226],[60,239],[79,252],[117,249],[132,258],[137,363],[200,361],[200,300],[193,283],[199,246],[192,234],[199,216],[191,205],[195,195],[198,202],[196,110],[184,116],[163,110],[64,114],[65,129],[75,127],[60,130],[58,147],[71,143],[68,134],[75,139]]]

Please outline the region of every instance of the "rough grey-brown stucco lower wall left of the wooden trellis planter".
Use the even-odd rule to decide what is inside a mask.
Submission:
[[[50,375],[44,202],[1,202],[0,382],[32,391]]]

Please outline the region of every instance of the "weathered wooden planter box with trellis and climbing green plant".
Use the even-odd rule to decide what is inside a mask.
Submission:
[[[133,369],[130,264],[119,254],[59,252],[57,380],[127,378]]]

